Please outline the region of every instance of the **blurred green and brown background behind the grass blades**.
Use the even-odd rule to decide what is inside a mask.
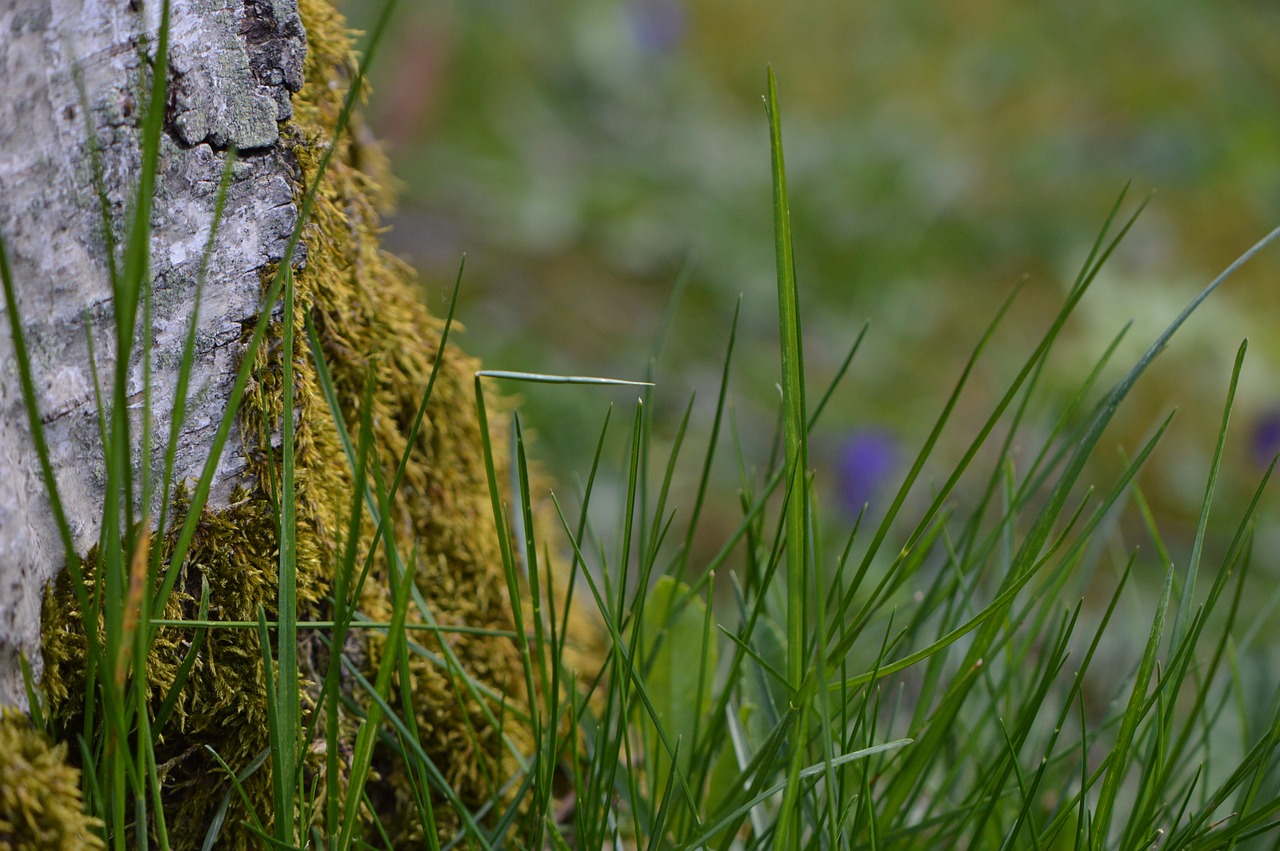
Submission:
[[[371,26],[372,5],[346,6],[353,26]],[[1126,183],[1126,210],[1155,196],[1071,321],[1039,421],[1124,322],[1134,328],[1112,379],[1280,224],[1280,8],[1270,3],[481,0],[404,1],[397,14],[369,109],[403,182],[387,243],[421,270],[438,312],[466,252],[462,346],[494,369],[643,378],[691,257],[657,370],[659,430],[669,434],[692,390],[705,429],[741,293],[733,410],[762,461],[777,406],[760,100],[773,65],[810,397],[870,321],[814,447],[819,485],[850,518],[896,484],[1025,278],[929,468],[946,475]],[[1116,448],[1137,452],[1179,408],[1143,477],[1175,541],[1193,529],[1245,337],[1224,534],[1280,448],[1277,273],[1272,251],[1213,296],[1100,447],[1105,486]],[[581,470],[600,395],[522,395],[552,471]],[[1032,430],[1024,448],[1034,441]],[[733,486],[731,466],[723,480]],[[1261,540],[1280,553],[1276,512],[1263,521]],[[1139,539],[1134,527],[1126,544]]]

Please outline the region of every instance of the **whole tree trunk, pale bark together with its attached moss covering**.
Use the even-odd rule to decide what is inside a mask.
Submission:
[[[100,613],[81,608],[101,601],[81,591],[96,587],[92,582],[106,573],[90,548],[102,531],[102,507],[111,497],[104,493],[109,456],[101,445],[99,398],[109,404],[114,394],[105,386],[95,392],[88,339],[106,384],[114,353],[110,247],[122,243],[142,168],[140,92],[150,88],[146,76],[154,67],[157,33],[151,3],[140,13],[124,0],[13,0],[0,12],[3,86],[9,87],[0,97],[0,233],[31,351],[38,416],[72,526],[70,546],[77,558],[86,555],[82,576],[90,584],[76,589],[72,571],[59,575],[65,552],[28,427],[12,317],[4,317],[0,703],[23,701],[19,654],[37,671],[42,660],[40,687],[49,726],[60,741],[74,741],[84,733],[86,719],[99,724],[96,735],[102,732],[104,714],[95,703],[105,691],[102,677],[128,681],[142,690],[133,694],[148,701],[152,717],[166,719],[152,735],[155,764],[165,767],[160,795],[172,847],[198,847],[206,827],[221,823],[215,813],[225,787],[215,778],[223,769],[211,754],[233,772],[252,774],[243,784],[247,801],[239,796],[232,801],[219,847],[253,847],[256,839],[243,827],[244,807],[264,823],[273,811],[270,770],[252,770],[269,746],[270,713],[257,632],[160,626],[146,633],[145,662],[87,660],[84,630],[97,628]],[[276,587],[285,569],[296,578],[300,619],[332,619],[330,600],[344,591],[351,598],[344,610],[380,623],[393,618],[392,589],[412,566],[416,587],[403,617],[415,624],[476,628],[447,641],[421,633],[416,642],[429,653],[399,659],[408,677],[396,688],[416,708],[420,744],[449,779],[456,800],[476,810],[493,800],[492,778],[521,770],[517,752],[527,754],[532,736],[531,727],[518,720],[531,713],[530,695],[520,641],[509,637],[516,631],[511,594],[527,590],[504,571],[485,463],[485,438],[493,457],[506,458],[503,427],[494,422],[492,434],[481,435],[474,395],[479,365],[442,347],[443,325],[419,301],[411,273],[380,248],[381,160],[339,119],[356,78],[342,18],[326,0],[184,0],[174,4],[172,24],[168,109],[151,215],[154,316],[150,324],[140,321],[142,339],[134,349],[147,329],[154,339],[146,357],[136,356],[138,362],[129,365],[124,393],[137,435],[145,433],[138,422],[143,389],[152,392],[150,434],[156,440],[152,468],[146,471],[152,480],[163,475],[157,465],[169,433],[166,412],[177,392],[174,378],[229,146],[241,154],[196,320],[197,369],[178,439],[175,482],[201,473],[238,371],[247,367],[251,378],[207,505],[197,505],[202,511],[195,517],[192,507],[178,505],[191,520],[193,537],[177,573],[164,573],[161,582],[173,585],[159,587],[172,587],[173,594],[157,605],[165,621],[191,621],[207,589],[209,619],[251,622],[264,614],[270,619],[288,596]],[[292,262],[294,310],[287,314],[273,306],[266,342],[250,358],[242,347],[246,329],[262,321],[264,282],[283,260],[307,186],[317,191]],[[100,195],[106,198],[106,216]],[[282,379],[287,326],[296,342],[292,403],[285,402]],[[324,380],[311,357],[312,340],[328,365]],[[433,388],[429,404],[428,388]],[[292,493],[284,493],[282,484],[284,447],[278,436],[287,407],[296,425]],[[356,445],[369,447],[370,482],[379,488],[398,482],[394,497],[381,491],[385,502],[378,500],[385,534],[376,546],[372,512],[351,516],[364,511],[367,494],[356,493],[343,430],[358,436]],[[141,447],[133,449],[134,458],[146,457]],[[136,479],[143,472],[138,463]],[[507,481],[503,470],[495,476]],[[280,511],[285,504],[294,514]],[[156,517],[154,507],[134,508],[137,517]],[[296,552],[289,559],[285,550],[282,566],[278,532],[291,516]],[[352,534],[357,540],[347,540]],[[353,546],[347,549],[348,544]],[[178,561],[175,545],[172,527],[151,543],[165,563]],[[352,585],[353,577],[338,572],[352,564],[344,553],[353,555],[352,569],[366,581]],[[108,564],[119,567],[114,559]],[[556,564],[548,569],[563,572]],[[109,581],[123,598],[118,573]],[[123,612],[108,614],[146,616],[133,605],[125,598]],[[576,609],[570,633],[575,653],[590,668],[599,633]],[[326,671],[339,671],[323,639],[316,630],[298,631],[296,669],[310,683],[324,681]],[[378,630],[353,628],[340,646],[343,665],[374,680],[387,648],[396,645]],[[440,659],[448,664],[442,667]],[[179,660],[189,660],[189,667]],[[111,668],[110,674],[100,668]],[[461,688],[460,676],[471,685]],[[365,699],[353,685],[357,678],[342,681],[343,688],[352,688],[344,700]],[[303,701],[312,708],[315,691]],[[175,701],[166,704],[168,695]],[[333,709],[340,715],[339,741],[325,741],[330,733],[325,724],[307,723],[315,738],[298,754],[307,788],[323,782],[343,788],[347,782],[346,763],[329,765],[319,755],[349,754],[358,718],[338,703]],[[493,728],[494,717],[506,719],[502,729]],[[381,747],[371,759],[365,792],[379,802],[375,816],[381,829],[402,847],[420,841],[424,825],[410,805],[415,797],[406,767]],[[461,822],[442,810],[435,824],[449,836]]]

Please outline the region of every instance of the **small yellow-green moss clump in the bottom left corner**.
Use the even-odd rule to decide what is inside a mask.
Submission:
[[[79,769],[67,764],[67,745],[50,744],[24,714],[0,709],[0,848],[101,848],[100,827],[81,807]]]

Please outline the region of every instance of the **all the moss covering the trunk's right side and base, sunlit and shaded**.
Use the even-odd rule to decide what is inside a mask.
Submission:
[[[301,187],[333,139],[338,115],[356,68],[349,33],[326,0],[301,0],[307,29],[306,84],[294,99],[293,122],[283,138],[300,169]],[[411,271],[381,251],[378,207],[388,200],[380,178],[383,160],[375,147],[348,129],[337,142],[334,157],[316,195],[303,230],[305,264],[296,274],[296,339],[305,340],[303,317],[315,324],[330,366],[347,426],[358,427],[358,408],[366,376],[374,381],[372,445],[385,479],[394,473],[426,388],[440,356],[442,324],[420,303]],[[301,189],[300,189],[301,197]],[[280,328],[274,326],[255,363],[239,412],[250,475],[233,503],[205,512],[183,566],[184,575],[169,601],[166,617],[196,614],[201,577],[210,585],[210,617],[252,621],[261,604],[274,617],[276,578],[276,516],[269,482],[279,479],[279,449],[270,435],[282,415]],[[393,530],[401,552],[416,548],[417,586],[444,626],[466,624],[509,631],[513,627],[507,584],[494,530],[472,398],[477,363],[453,347],[444,353],[431,404],[417,435],[411,463],[393,507]],[[297,418],[297,520],[300,618],[326,618],[324,600],[332,591],[339,535],[346,530],[352,477],[337,429],[320,392],[305,346],[294,358]],[[493,435],[495,454],[506,457],[504,435]],[[180,508],[180,505],[179,505]],[[180,516],[180,512],[179,512]],[[364,548],[372,526],[366,521]],[[172,537],[165,546],[172,546]],[[86,561],[92,582],[96,559]],[[79,729],[84,682],[84,636],[81,613],[64,575],[45,608],[44,688],[52,715],[65,735]],[[375,621],[390,618],[385,562],[379,552],[358,600],[361,613]],[[417,619],[411,607],[411,619]],[[589,641],[589,627],[575,631]],[[160,630],[148,656],[148,690],[154,704],[169,691],[178,664],[193,639],[192,630]],[[429,633],[416,633],[428,649],[438,649]],[[366,671],[380,662],[381,639],[358,636],[364,646],[348,651],[362,658]],[[504,695],[504,735],[527,752],[529,731],[513,720],[527,714],[518,648],[508,639],[457,633],[452,653],[467,674]],[[300,664],[312,682],[326,664],[319,641],[301,637]],[[229,765],[241,769],[268,746],[266,696],[257,633],[252,630],[207,631],[191,678],[163,732],[156,760],[164,778],[165,811],[173,846],[197,846],[220,802],[223,773],[207,754],[214,747]],[[451,677],[425,658],[410,663],[410,683],[426,752],[468,807],[492,800],[497,786],[516,772],[515,758],[480,708],[460,696]],[[404,687],[406,683],[398,683]],[[360,695],[353,695],[357,700]],[[305,708],[310,697],[303,696]],[[398,704],[399,697],[393,703]],[[323,726],[321,726],[323,729]],[[346,733],[353,722],[344,719]],[[346,752],[349,741],[328,744]],[[317,749],[319,750],[319,749]],[[421,825],[407,796],[402,767],[392,754],[375,755],[370,799],[397,847],[421,843]],[[312,758],[308,769],[320,772]],[[337,778],[339,783],[344,778]],[[264,765],[246,782],[257,815],[270,822],[270,777]],[[323,792],[321,792],[323,795]],[[219,847],[251,847],[256,842],[239,827],[244,816],[233,797]],[[442,832],[458,820],[438,811]]]

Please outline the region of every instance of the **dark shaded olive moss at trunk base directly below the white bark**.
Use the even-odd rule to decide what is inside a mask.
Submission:
[[[179,500],[178,516],[186,513]],[[210,618],[252,621],[261,604],[275,617],[275,512],[252,491],[237,493],[232,504],[205,512],[178,587],[165,608],[172,619],[195,618],[201,578],[210,586]],[[173,536],[164,541],[165,557]],[[314,550],[314,545],[310,548]],[[300,572],[305,559],[300,548]],[[312,555],[312,564],[317,559]],[[84,581],[92,593],[100,561],[95,548],[84,558]],[[86,639],[72,580],[65,571],[45,601],[42,645],[45,678],[41,688],[60,731],[72,740],[83,729]],[[320,584],[314,571],[307,589],[314,598]],[[301,596],[301,594],[300,594]],[[161,628],[147,655],[147,696],[152,710],[170,691],[191,642],[193,628]],[[225,793],[224,772],[209,754],[212,747],[239,769],[268,747],[266,694],[261,648],[253,630],[209,630],[195,667],[179,692],[169,724],[156,744],[156,763],[164,781],[165,816],[174,847],[200,847],[211,815]],[[262,818],[270,813],[270,774],[259,770],[244,790]],[[247,814],[233,796],[227,847],[252,847],[238,820]],[[228,832],[224,832],[228,836]]]

